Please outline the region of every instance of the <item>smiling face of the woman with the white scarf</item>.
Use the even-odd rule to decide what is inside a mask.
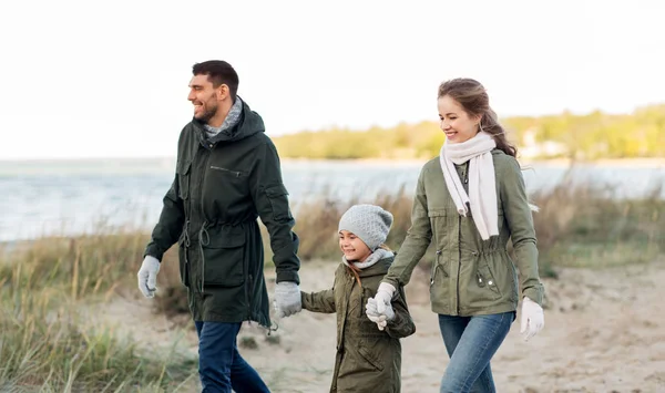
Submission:
[[[448,143],[462,143],[478,134],[480,116],[470,116],[450,95],[439,99],[440,126]]]

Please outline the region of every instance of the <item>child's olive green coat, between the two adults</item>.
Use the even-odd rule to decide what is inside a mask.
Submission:
[[[337,312],[337,355],[330,392],[400,392],[401,345],[399,339],[413,334],[402,288],[392,301],[395,319],[385,331],[365,314],[393,257],[383,258],[359,272],[360,287],[344,263],[335,271],[332,289],[303,292],[303,308],[314,312]]]

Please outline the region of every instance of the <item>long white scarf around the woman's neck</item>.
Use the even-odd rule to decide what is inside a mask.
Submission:
[[[492,153],[497,147],[494,138],[480,132],[474,137],[462,143],[446,142],[441,147],[439,161],[443,178],[454,201],[458,213],[467,216],[468,205],[475,227],[483,240],[499,235],[499,210],[497,207],[497,182],[494,178],[494,162]],[[454,164],[469,161],[469,195],[464,192]]]

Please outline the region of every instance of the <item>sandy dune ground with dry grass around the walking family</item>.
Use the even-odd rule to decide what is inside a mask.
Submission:
[[[499,391],[665,391],[665,201],[657,195],[620,200],[611,190],[562,184],[533,196],[541,207],[534,219],[546,328],[524,343],[513,325],[493,364]],[[324,196],[294,205],[304,290],[331,285],[337,220],[357,201],[365,200]],[[398,249],[409,226],[409,195],[380,194],[372,201],[395,214],[388,242]],[[144,231],[100,225],[94,234],[0,251],[0,391],[196,390],[196,338],[173,249],[158,297],[142,299],[135,289],[146,240]],[[402,343],[405,392],[436,391],[447,363],[420,277],[429,258],[407,288],[418,332]],[[270,263],[266,275],[274,277]],[[246,325],[243,353],[275,392],[326,391],[334,318],[301,312],[279,321],[269,337]]]

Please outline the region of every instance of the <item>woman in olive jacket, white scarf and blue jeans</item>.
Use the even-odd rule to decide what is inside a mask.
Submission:
[[[471,79],[444,82],[438,104],[446,143],[422,167],[411,228],[367,314],[383,318],[396,288],[409,282],[433,242],[430,300],[450,356],[440,392],[494,392],[490,360],[510,330],[519,299],[526,339],[544,325],[531,205],[516,148],[507,141],[484,87]]]

